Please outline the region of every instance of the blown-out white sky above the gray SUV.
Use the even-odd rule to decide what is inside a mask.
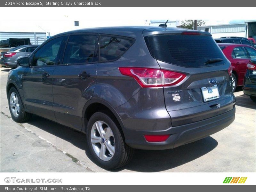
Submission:
[[[141,8],[22,8],[24,9],[21,17],[9,12],[20,12],[19,7],[13,7],[1,10],[3,15],[8,15],[8,18],[1,20],[0,31],[10,32],[50,32],[50,36],[61,32],[93,27],[108,27],[108,26],[140,26],[146,25],[146,20],[161,20],[169,18],[170,20],[185,20],[191,18],[191,8],[179,9],[161,8],[161,16],[156,11],[156,8],[147,8],[149,11],[141,14]],[[130,10],[132,9],[132,11]],[[234,20],[233,16],[225,16],[226,20],[221,20],[222,16],[205,14],[208,10],[200,9],[200,12],[193,12],[196,19],[205,20],[205,25],[219,25],[228,23],[241,23],[243,20]],[[213,8],[214,9],[214,8]],[[232,8],[233,9],[233,8]],[[234,8],[235,9],[235,8]],[[225,9],[226,10],[226,9]],[[169,11],[169,12],[167,12]],[[221,11],[221,8],[220,8]],[[124,14],[132,12],[133,14]],[[96,14],[97,13],[97,14]],[[204,17],[204,18],[200,18]],[[206,18],[207,17],[207,18]],[[248,14],[240,15],[245,19]],[[221,18],[221,19],[220,19]],[[233,20],[231,20],[231,18]],[[228,20],[229,19],[229,20]],[[248,19],[250,20],[250,19]],[[79,27],[74,26],[74,21],[79,21]]]

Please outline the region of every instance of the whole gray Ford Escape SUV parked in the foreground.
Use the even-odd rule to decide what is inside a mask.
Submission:
[[[208,32],[81,29],[18,63],[6,86],[12,119],[36,114],[86,133],[105,169],[127,164],[134,148],[176,148],[235,119],[232,67]]]

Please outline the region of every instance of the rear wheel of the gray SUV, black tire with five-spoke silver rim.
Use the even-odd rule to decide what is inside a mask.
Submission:
[[[101,130],[102,135],[98,130]],[[113,135],[113,137],[108,137],[108,135]],[[103,141],[101,136],[103,136]],[[86,137],[93,160],[104,169],[117,169],[126,165],[132,159],[134,149],[126,145],[117,124],[111,116],[105,113],[96,112],[91,116],[87,126]],[[101,149],[104,151],[104,148],[105,153],[101,153]],[[111,152],[113,155],[111,155]]]

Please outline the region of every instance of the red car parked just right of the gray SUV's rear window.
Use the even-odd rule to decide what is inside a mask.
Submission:
[[[246,66],[251,59],[256,58],[256,49],[244,44],[218,44],[224,55],[232,65],[232,87],[233,91],[236,86],[244,84],[244,75]]]

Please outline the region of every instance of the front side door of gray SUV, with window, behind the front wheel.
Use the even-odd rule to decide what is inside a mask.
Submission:
[[[63,37],[47,41],[30,57],[30,67],[22,76],[23,96],[29,112],[56,121],[52,110],[52,74]]]

